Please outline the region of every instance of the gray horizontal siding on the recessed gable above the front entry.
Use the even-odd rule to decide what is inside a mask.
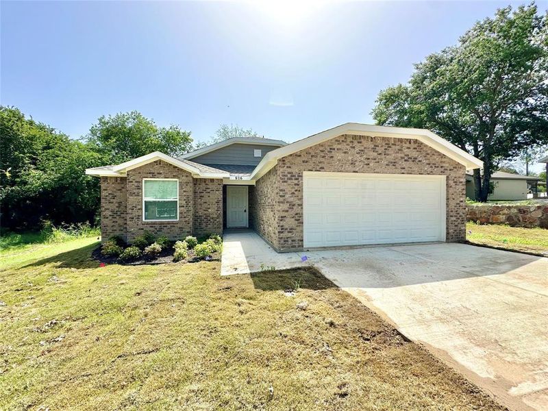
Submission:
[[[241,164],[256,166],[266,153],[275,149],[279,149],[279,146],[235,143],[191,158],[190,160],[199,164]],[[261,150],[261,156],[253,157],[253,150]]]

